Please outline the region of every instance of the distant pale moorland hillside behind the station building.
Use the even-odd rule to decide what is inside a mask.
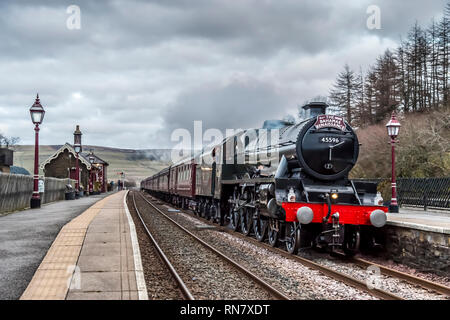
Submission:
[[[45,161],[60,147],[61,145],[40,146],[39,162]],[[170,150],[167,149],[133,150],[100,146],[83,146],[83,148],[84,151],[93,149],[96,155],[109,163],[108,180],[118,180],[118,173],[123,171],[126,178],[139,182],[170,163]],[[14,165],[33,172],[34,146],[18,145],[14,150]]]

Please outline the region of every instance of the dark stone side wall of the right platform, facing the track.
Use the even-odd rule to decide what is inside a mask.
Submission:
[[[386,226],[386,255],[422,271],[450,274],[450,234]]]

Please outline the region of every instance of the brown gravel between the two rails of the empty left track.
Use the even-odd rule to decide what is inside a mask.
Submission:
[[[139,195],[135,199],[147,227],[195,299],[273,299],[253,280],[156,212]],[[151,286],[148,280],[147,285]]]

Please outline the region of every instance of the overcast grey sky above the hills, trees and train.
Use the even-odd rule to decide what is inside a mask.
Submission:
[[[81,28],[67,28],[67,7]],[[369,5],[381,29],[367,28]],[[175,128],[260,127],[327,95],[348,63],[363,70],[444,0],[0,2],[0,132],[42,144],[170,146]],[[73,20],[71,20],[73,21]]]

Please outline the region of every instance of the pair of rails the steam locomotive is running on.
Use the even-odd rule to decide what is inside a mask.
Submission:
[[[196,218],[200,220],[199,217],[196,217]],[[301,257],[301,256],[297,256],[297,255],[290,255],[289,253],[287,253],[286,251],[284,251],[282,249],[273,248],[273,247],[269,246],[268,244],[258,242],[256,239],[253,239],[253,238],[250,238],[250,237],[246,237],[246,236],[242,235],[239,232],[235,232],[235,231],[230,230],[229,228],[218,227],[217,225],[212,224],[207,219],[203,219],[202,218],[201,221],[205,222],[207,224],[210,224],[210,225],[214,225],[217,228],[220,228],[222,231],[225,231],[225,232],[228,232],[230,234],[236,235],[239,238],[246,239],[247,241],[249,241],[249,242],[251,242],[251,243],[253,243],[255,245],[263,245],[269,251],[276,252],[278,254],[281,254],[284,257],[296,260],[296,261],[302,263],[303,265],[305,265],[305,266],[307,266],[309,268],[319,270],[323,274],[325,274],[325,275],[327,275],[327,276],[329,276],[331,278],[334,278],[336,280],[342,281],[344,283],[347,283],[348,285],[351,285],[352,287],[355,287],[357,289],[360,289],[360,290],[363,290],[365,292],[368,292],[368,293],[370,293],[371,295],[373,295],[373,296],[375,296],[377,298],[388,299],[388,300],[403,300],[402,297],[400,297],[398,295],[395,295],[395,294],[393,294],[393,293],[391,293],[389,291],[386,291],[386,290],[382,290],[382,289],[378,289],[378,288],[369,289],[367,284],[364,281],[352,278],[351,276],[349,276],[349,275],[347,275],[345,273],[333,270],[332,268],[329,268],[327,266],[323,266],[323,265],[321,265],[319,263],[316,263],[316,262],[314,262],[314,261],[312,261],[310,259],[307,259],[305,257]],[[342,255],[341,258],[344,258],[344,256]],[[417,286],[417,287],[421,287],[423,289],[430,290],[432,292],[436,292],[438,294],[442,294],[444,296],[450,297],[450,288],[446,287],[444,285],[441,285],[439,283],[428,281],[428,280],[422,279],[420,277],[416,277],[416,276],[413,276],[413,275],[410,275],[410,274],[407,274],[407,273],[404,273],[404,272],[400,272],[400,271],[397,271],[395,269],[391,269],[391,268],[388,268],[386,266],[383,266],[383,265],[380,265],[380,264],[376,264],[376,263],[373,263],[371,261],[367,261],[367,260],[364,260],[364,259],[361,259],[361,258],[352,258],[352,259],[345,258],[345,260],[347,262],[353,263],[353,264],[359,266],[360,268],[364,268],[364,269],[366,269],[369,266],[376,266],[376,267],[379,268],[379,270],[380,270],[382,275],[393,277],[393,278],[396,278],[396,279],[399,279],[399,280],[403,280],[403,281],[405,281],[405,282],[407,282],[407,283],[409,283],[411,285],[414,285],[414,286]]]

